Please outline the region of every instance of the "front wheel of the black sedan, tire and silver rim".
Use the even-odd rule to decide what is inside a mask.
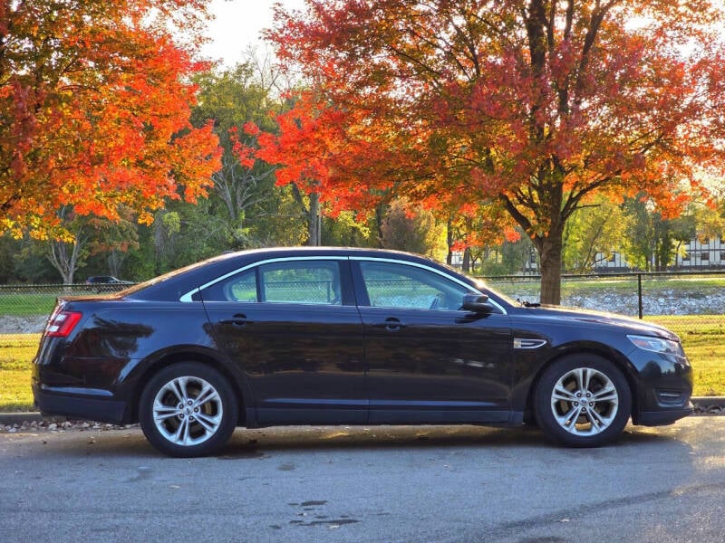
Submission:
[[[598,447],[612,443],[632,414],[626,378],[603,357],[564,357],[547,367],[534,391],[536,422],[556,443]]]

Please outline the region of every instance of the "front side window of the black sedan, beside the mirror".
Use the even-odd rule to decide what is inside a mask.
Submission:
[[[372,307],[459,310],[471,289],[434,271],[397,262],[360,262]]]

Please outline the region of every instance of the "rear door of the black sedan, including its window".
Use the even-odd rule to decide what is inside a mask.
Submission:
[[[220,348],[247,376],[258,424],[366,422],[362,322],[346,258],[262,262],[201,297]]]

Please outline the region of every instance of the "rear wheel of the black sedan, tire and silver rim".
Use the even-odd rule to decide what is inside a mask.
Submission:
[[[160,452],[205,456],[234,432],[237,396],[213,367],[180,362],[150,379],[140,395],[139,419],[146,439]]]

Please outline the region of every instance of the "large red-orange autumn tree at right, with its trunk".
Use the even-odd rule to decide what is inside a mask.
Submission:
[[[672,215],[725,175],[720,1],[306,5],[278,7],[267,37],[389,151],[348,155],[329,189],[505,212],[539,252],[544,302],[565,223],[595,195],[644,192]]]

